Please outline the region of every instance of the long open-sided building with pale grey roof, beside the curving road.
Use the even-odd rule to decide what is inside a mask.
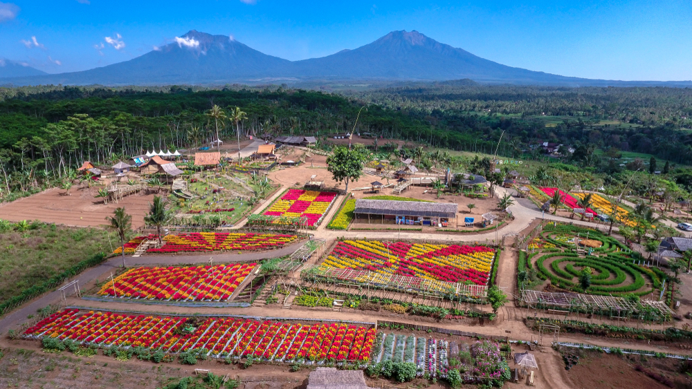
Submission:
[[[403,225],[448,225],[457,217],[457,204],[442,202],[417,202],[398,200],[356,200],[356,221],[367,219]],[[373,217],[374,216],[374,217]]]

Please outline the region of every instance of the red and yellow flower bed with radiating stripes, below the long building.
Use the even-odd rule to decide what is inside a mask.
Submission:
[[[344,240],[334,247],[324,264],[340,269],[486,285],[493,258],[493,249],[484,246]]]

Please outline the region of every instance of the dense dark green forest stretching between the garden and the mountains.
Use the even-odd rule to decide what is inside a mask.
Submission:
[[[692,185],[684,167],[692,165],[687,88],[482,86],[464,80],[333,92],[286,85],[36,86],[0,88],[3,197],[60,182],[82,160],[106,163],[208,143],[215,138],[209,114],[215,105],[228,117],[220,124],[222,140],[301,134],[316,135],[318,146],[328,147],[327,135],[351,131],[361,112],[356,133],[567,162],[603,175],[628,169],[615,162],[618,153],[644,153],[672,162],[668,169],[677,184]],[[548,158],[543,142],[574,153]]]

